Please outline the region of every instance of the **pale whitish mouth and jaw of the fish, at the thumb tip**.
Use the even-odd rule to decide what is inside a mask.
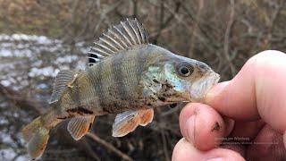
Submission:
[[[210,72],[206,77],[193,83],[189,90],[192,102],[204,102],[206,93],[212,89],[219,80],[219,74]]]

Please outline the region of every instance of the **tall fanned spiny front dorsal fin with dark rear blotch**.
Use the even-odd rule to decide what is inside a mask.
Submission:
[[[112,26],[94,42],[88,52],[88,66],[96,64],[107,56],[117,54],[131,47],[148,44],[147,31],[137,19],[121,21]]]

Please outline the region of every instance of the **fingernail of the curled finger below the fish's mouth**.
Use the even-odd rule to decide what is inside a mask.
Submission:
[[[196,133],[196,115],[192,115],[185,123],[187,140],[196,146],[195,133]]]

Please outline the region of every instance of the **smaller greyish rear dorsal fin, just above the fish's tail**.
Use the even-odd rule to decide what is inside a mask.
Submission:
[[[50,104],[58,101],[68,84],[74,80],[74,76],[77,75],[77,72],[71,70],[63,70],[57,73],[55,77],[53,94],[51,96]]]

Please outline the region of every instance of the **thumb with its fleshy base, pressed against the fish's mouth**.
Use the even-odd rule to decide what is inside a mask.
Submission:
[[[276,131],[285,131],[286,55],[268,50],[253,56],[232,80],[209,91],[206,104],[236,119],[261,117]]]

